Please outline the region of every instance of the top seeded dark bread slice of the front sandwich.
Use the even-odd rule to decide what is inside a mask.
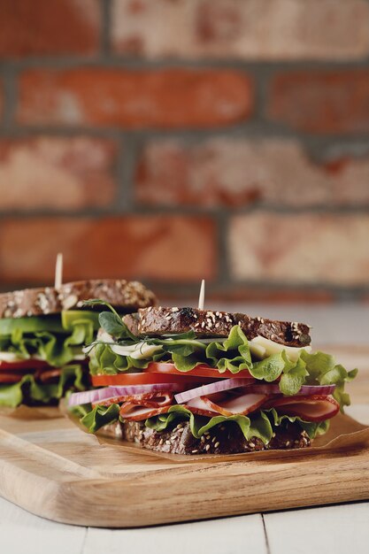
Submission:
[[[247,338],[264,336],[286,346],[310,344],[310,327],[304,323],[252,318],[244,313],[210,312],[196,308],[148,307],[124,316],[124,322],[134,335],[166,335],[195,331],[206,337],[227,337],[234,325],[239,325]]]

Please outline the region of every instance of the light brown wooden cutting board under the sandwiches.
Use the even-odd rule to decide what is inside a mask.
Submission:
[[[360,352],[363,359],[366,354],[369,359],[369,351]],[[352,351],[350,358],[352,365]],[[366,365],[350,392],[369,423]],[[47,416],[0,417],[0,495],[47,519],[141,527],[369,498],[367,445],[305,450],[297,457],[173,463],[101,446],[69,420]]]

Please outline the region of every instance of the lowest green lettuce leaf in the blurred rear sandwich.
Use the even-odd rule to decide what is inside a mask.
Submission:
[[[58,383],[42,384],[31,374],[12,385],[0,385],[0,406],[16,408],[19,404],[50,404],[58,401],[67,390],[85,390],[86,376],[81,365],[62,368]]]

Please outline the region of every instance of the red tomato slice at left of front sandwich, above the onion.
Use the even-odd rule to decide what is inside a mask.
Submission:
[[[108,387],[109,385],[151,385],[153,383],[178,383],[181,382],[186,387],[192,385],[202,385],[204,382],[214,381],[213,379],[202,379],[192,375],[183,375],[183,373],[119,373],[119,375],[92,375],[92,385],[94,387]]]

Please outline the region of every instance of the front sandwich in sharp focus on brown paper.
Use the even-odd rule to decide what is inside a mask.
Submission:
[[[151,306],[99,321],[96,389],[69,398],[91,433],[185,455],[299,449],[350,404],[357,370],[312,352],[303,323]]]

